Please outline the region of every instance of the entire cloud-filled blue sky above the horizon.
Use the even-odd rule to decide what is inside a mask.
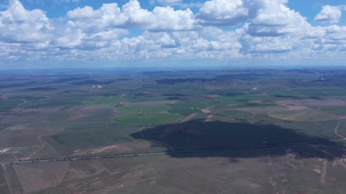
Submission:
[[[3,0],[0,69],[344,66],[346,1]]]

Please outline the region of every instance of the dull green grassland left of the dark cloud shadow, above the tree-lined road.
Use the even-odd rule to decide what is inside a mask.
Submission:
[[[75,123],[45,140],[63,156],[166,150],[165,146],[157,143],[133,138],[131,134],[138,132],[140,128],[142,126],[134,124]]]

